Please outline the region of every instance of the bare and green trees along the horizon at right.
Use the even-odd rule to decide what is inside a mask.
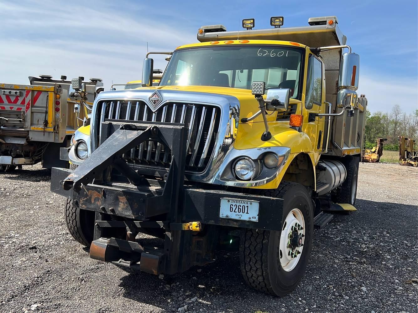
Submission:
[[[366,112],[366,148],[376,146],[377,138],[387,138],[383,144],[384,150],[398,150],[398,136],[415,139],[415,149],[418,144],[418,110],[413,113],[403,112],[399,104],[393,106],[390,112]]]

